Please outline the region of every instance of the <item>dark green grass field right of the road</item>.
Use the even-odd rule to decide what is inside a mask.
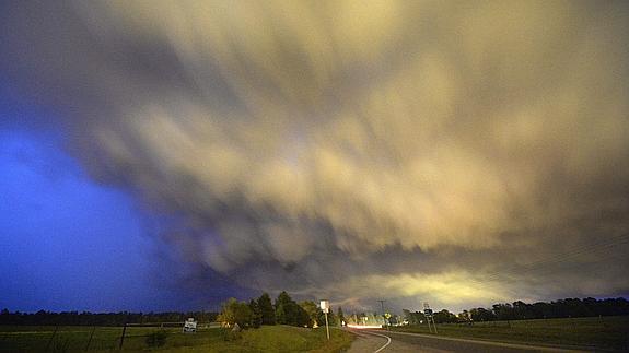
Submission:
[[[629,350],[629,316],[438,325],[439,336]],[[428,326],[394,328],[429,333]]]

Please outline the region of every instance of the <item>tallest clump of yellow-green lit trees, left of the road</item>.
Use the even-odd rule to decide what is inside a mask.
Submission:
[[[336,314],[330,307],[328,325],[340,326],[345,321],[342,308]],[[218,321],[226,327],[238,325],[241,328],[258,328],[261,325],[289,325],[296,327],[318,327],[325,325],[325,314],[312,301],[296,303],[287,292],[281,292],[271,303],[268,293],[247,302],[230,298],[222,304]]]

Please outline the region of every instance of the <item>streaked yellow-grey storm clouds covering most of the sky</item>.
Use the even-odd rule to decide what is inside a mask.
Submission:
[[[109,236],[156,293],[627,296],[627,33],[625,1],[16,1],[0,78],[45,114],[4,107],[0,144],[58,137],[47,163],[151,219]],[[40,216],[7,209],[2,237]],[[105,268],[93,230],[58,258]]]

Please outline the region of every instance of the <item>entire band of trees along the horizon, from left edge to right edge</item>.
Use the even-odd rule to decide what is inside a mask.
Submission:
[[[493,320],[524,320],[544,318],[596,317],[629,315],[629,301],[626,298],[584,299],[566,298],[554,302],[537,302],[527,304],[521,301],[499,303],[491,308],[477,307],[463,310],[458,315],[447,309],[435,311],[436,323],[493,321]],[[260,297],[247,302],[234,298],[223,303],[221,313],[188,311],[188,313],[90,313],[62,311],[53,313],[39,310],[37,313],[11,313],[8,309],[0,311],[0,325],[28,325],[28,326],[123,326],[126,323],[160,323],[182,322],[187,318],[195,318],[199,322],[221,321],[225,325],[259,327],[260,325],[290,325],[299,327],[314,327],[325,325],[323,310],[314,302],[294,302],[287,292],[278,295],[275,303],[264,293]],[[364,319],[364,320],[363,320]],[[403,321],[410,325],[426,322],[421,311],[403,310],[403,316],[393,315],[388,322],[394,325]],[[342,308],[336,313],[330,308],[328,323],[340,326],[347,323],[382,325],[382,316],[376,313],[352,314],[345,316]]]

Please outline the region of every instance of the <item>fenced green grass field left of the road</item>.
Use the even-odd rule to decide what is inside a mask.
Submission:
[[[124,351],[153,350],[160,352],[341,352],[351,345],[353,336],[341,330],[304,329],[288,326],[264,326],[242,332],[240,339],[225,341],[220,328],[200,329],[197,333],[182,333],[179,328],[167,328],[163,346],[147,343],[153,327],[128,327]],[[108,352],[117,351],[123,328],[96,327],[92,340],[91,327],[0,326],[0,352]]]

